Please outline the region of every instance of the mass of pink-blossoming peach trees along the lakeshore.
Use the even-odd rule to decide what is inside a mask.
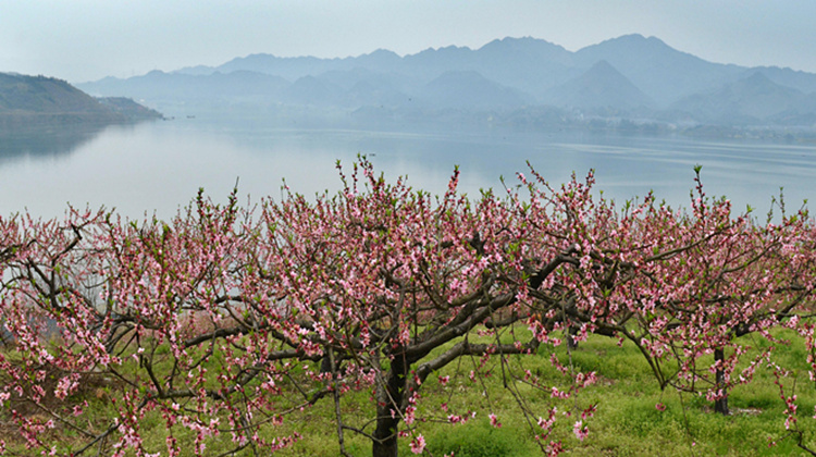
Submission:
[[[630,341],[660,387],[703,393],[724,413],[728,390],[772,356],[737,374],[738,336],[789,326],[814,353],[804,211],[759,225],[702,187],[689,212],[652,196],[619,209],[593,196],[592,174],[560,188],[520,174],[506,195],[479,199],[457,192],[458,172],[438,197],[390,184],[364,160],[339,174],[336,195],[286,192],[258,208],[199,193],[168,222],[74,209],[62,221],[0,219],[0,415],[21,446],[177,456],[219,441],[225,455],[265,455],[295,443],[300,415],[322,402],[341,454],[349,433],[376,457],[400,442],[422,454],[428,421],[474,413],[421,409],[423,384],[461,376],[483,390],[494,375],[556,455],[556,405],[595,382],[561,365],[565,341]],[[562,382],[536,378],[534,357]],[[549,406],[536,409],[522,385]],[[359,391],[370,393],[364,418],[344,408]],[[107,416],[87,417],[88,395]],[[579,405],[567,427],[583,439],[595,406]],[[163,443],[145,440],[156,420]]]

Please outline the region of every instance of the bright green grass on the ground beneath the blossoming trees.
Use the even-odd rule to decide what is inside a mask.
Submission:
[[[767,343],[762,338],[747,336],[747,344],[762,348]],[[566,349],[561,358],[566,362]],[[540,356],[526,358],[527,367],[540,373],[543,379],[554,375],[547,357],[542,350]],[[777,349],[777,357],[789,366],[800,367],[798,373],[799,422],[805,431],[806,443],[816,447],[816,420],[811,419],[816,404],[816,392],[807,381],[804,348],[801,343]],[[777,456],[806,455],[788,436],[783,427],[783,403],[779,398],[778,386],[774,384],[772,373],[763,368],[757,370],[753,383],[738,386],[729,398],[732,416],[724,417],[712,411],[712,405],[700,396],[677,392],[660,392],[652,372],[640,353],[631,345],[618,347],[616,341],[602,336],[591,336],[588,342],[572,351],[572,362],[577,369],[596,371],[598,383],[582,391],[579,406],[597,404],[597,412],[589,421],[590,435],[579,441],[571,430],[574,419],[562,418],[553,439],[561,440],[570,456]],[[458,366],[460,372],[470,370],[469,361]],[[456,367],[440,374],[454,374]],[[541,455],[533,440],[533,432],[524,422],[511,394],[502,387],[502,376],[493,375],[486,380],[486,395],[482,387],[472,384],[467,375],[456,376],[443,386],[435,376],[429,378],[422,386],[422,399],[418,417],[443,418],[440,410],[442,403],[447,403],[452,410],[472,409],[474,419],[466,424],[452,425],[429,421],[420,425],[428,447],[434,456],[454,452],[456,457],[508,456],[524,457]],[[789,379],[788,385],[792,384]],[[537,415],[545,416],[554,400],[546,393],[522,387],[521,392],[532,403]],[[87,420],[106,423],[104,418],[113,409],[107,398],[107,387],[99,386],[84,390],[89,402]],[[666,409],[660,411],[655,405],[663,403]],[[561,400],[559,408],[570,409],[572,400]],[[373,413],[369,392],[362,391],[343,397],[342,409],[345,419],[356,425],[363,424]],[[498,416],[502,427],[490,424],[487,415]],[[8,410],[2,411],[2,421],[8,425]],[[324,399],[312,408],[296,416],[286,418],[284,425],[275,429],[276,434],[286,431],[298,431],[302,439],[292,448],[281,452],[281,456],[336,456],[338,455],[336,425],[333,422],[334,409],[330,399]],[[0,429],[0,433],[12,433],[11,428]],[[148,417],[141,424],[147,448],[161,450],[165,440],[162,419],[158,413]],[[191,439],[185,429],[174,429],[174,435],[184,442]],[[14,437],[3,436],[10,442],[10,448],[16,447],[20,455],[28,455],[16,443]],[[66,442],[72,434],[65,435]],[[777,441],[769,446],[770,441]],[[410,453],[408,441],[400,442],[400,454]],[[355,456],[371,455],[370,442],[359,435],[346,432],[346,447]],[[208,455],[219,455],[230,448],[230,434],[208,443]],[[32,450],[28,450],[30,453]],[[211,454],[210,454],[211,453]],[[91,453],[96,455],[96,452]],[[240,455],[240,454],[238,454]],[[249,455],[247,453],[246,455]]]

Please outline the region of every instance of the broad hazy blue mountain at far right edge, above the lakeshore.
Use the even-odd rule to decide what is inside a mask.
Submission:
[[[802,109],[816,112],[816,104],[802,103],[805,95],[800,90],[774,83],[761,72],[726,84],[716,90],[695,94],[672,104],[679,111],[691,113],[701,122],[717,124],[766,124],[783,113]]]

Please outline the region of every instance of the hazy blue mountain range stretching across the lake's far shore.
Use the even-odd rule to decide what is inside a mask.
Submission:
[[[163,111],[298,107],[372,119],[457,111],[505,122],[532,116],[534,123],[543,115],[816,126],[816,74],[708,62],[641,35],[574,52],[527,37],[405,57],[383,49],[343,59],[251,54],[218,66],[106,77],[77,87],[144,100]]]

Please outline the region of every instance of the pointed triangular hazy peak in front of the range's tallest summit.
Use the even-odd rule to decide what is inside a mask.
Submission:
[[[635,109],[654,106],[654,101],[602,60],[581,76],[547,91],[543,101],[562,108]]]

